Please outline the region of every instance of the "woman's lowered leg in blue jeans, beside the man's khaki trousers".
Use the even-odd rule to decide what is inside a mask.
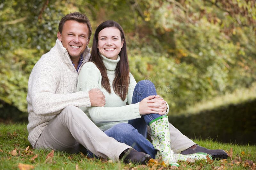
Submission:
[[[115,138],[118,142],[125,143],[139,152],[145,152],[155,158],[156,150],[151,142],[144,138],[132,125],[119,123],[104,131],[109,137]]]

